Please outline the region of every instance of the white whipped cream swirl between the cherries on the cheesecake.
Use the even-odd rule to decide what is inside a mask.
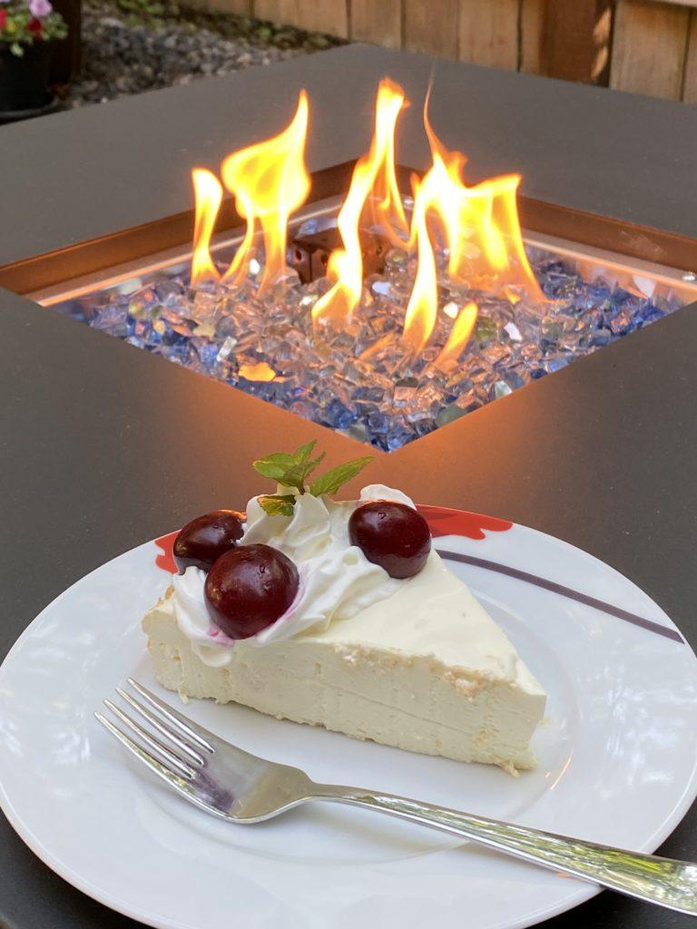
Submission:
[[[283,488],[283,493],[289,493]],[[382,484],[363,488],[360,500],[336,503],[328,497],[297,494],[292,517],[269,516],[256,497],[247,504],[247,522],[240,544],[263,543],[278,548],[298,569],[300,584],[291,607],[260,633],[244,639],[256,646],[280,642],[303,633],[320,633],[330,622],[348,620],[385,600],[401,581],[374,565],[349,540],[349,518],[362,503],[392,500],[414,506],[401,491]],[[234,639],[212,622],[205,608],[205,571],[187,568],[173,580],[173,605],[178,627],[194,653],[210,667],[230,662]]]

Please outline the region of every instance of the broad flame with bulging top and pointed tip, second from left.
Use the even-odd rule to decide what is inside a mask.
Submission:
[[[220,168],[223,183],[234,194],[235,207],[247,221],[244,240],[223,281],[241,281],[255,240],[256,222],[264,239],[266,267],[262,293],[285,270],[288,217],[308,198],[310,178],[305,165],[308,135],[308,95],[303,90],[293,121],[278,136],[229,155]]]

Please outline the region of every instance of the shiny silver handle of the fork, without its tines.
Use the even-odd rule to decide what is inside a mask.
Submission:
[[[472,816],[445,806],[422,804],[389,793],[331,784],[318,784],[316,787],[317,791],[312,792],[313,799],[362,806],[408,819],[667,909],[697,915],[697,864],[689,861],[641,855],[609,845]]]

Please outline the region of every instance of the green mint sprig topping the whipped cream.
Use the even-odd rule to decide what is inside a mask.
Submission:
[[[336,493],[347,481],[355,478],[366,464],[373,461],[372,456],[368,455],[365,458],[355,458],[353,461],[337,464],[319,478],[315,478],[309,487],[306,487],[309,476],[324,459],[323,452],[316,458],[312,458],[316,444],[314,441],[308,442],[292,454],[278,451],[266,455],[254,462],[255,470],[264,478],[275,480],[282,487],[292,487],[301,494],[309,491],[313,497],[319,497],[324,493]],[[293,507],[296,502],[294,494],[263,494],[258,500],[270,516],[293,516]]]

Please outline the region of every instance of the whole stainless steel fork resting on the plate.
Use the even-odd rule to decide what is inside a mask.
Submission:
[[[141,725],[111,700],[108,709],[135,738],[95,713],[129,752],[191,804],[235,823],[256,823],[310,800],[362,806],[489,845],[544,868],[697,915],[697,864],[641,855],[516,826],[389,793],[316,784],[304,771],[257,758],[219,739],[128,678],[135,694],[117,687]]]

